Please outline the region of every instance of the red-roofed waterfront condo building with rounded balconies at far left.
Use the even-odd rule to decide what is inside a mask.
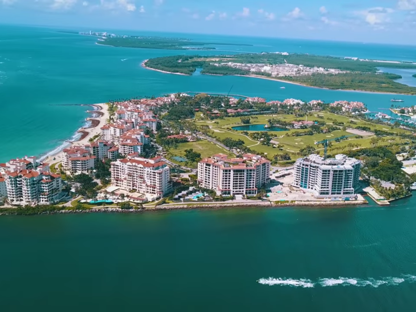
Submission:
[[[59,174],[20,170],[7,174],[5,181],[10,203],[51,204],[62,198],[62,179]]]

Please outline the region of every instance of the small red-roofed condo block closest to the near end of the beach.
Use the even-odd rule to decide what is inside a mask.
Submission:
[[[83,146],[72,146],[64,149],[64,159],[62,167],[71,173],[88,173],[91,168],[95,168],[94,161],[96,156],[91,156],[89,151]]]

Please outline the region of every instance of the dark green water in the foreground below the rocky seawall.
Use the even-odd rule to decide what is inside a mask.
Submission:
[[[414,311],[415,218],[415,198],[388,208],[5,216],[0,311]],[[323,286],[339,277],[357,284]]]

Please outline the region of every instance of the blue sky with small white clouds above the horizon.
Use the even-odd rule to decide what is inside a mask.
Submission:
[[[0,0],[0,23],[416,45],[416,0]]]

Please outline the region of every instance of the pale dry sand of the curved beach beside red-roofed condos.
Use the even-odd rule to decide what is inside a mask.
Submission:
[[[107,110],[106,103],[99,103],[99,104],[89,104],[85,106],[92,106],[94,110],[87,110],[88,114],[94,114],[94,117],[88,117],[86,120],[90,121],[91,125],[89,127],[82,127],[78,129],[77,133],[80,133],[81,136],[77,141],[66,141],[71,144],[71,146],[77,145],[85,145],[90,144],[89,139],[93,136],[101,133],[101,127],[106,123],[106,120],[109,119],[109,113]],[[62,161],[62,150],[57,150],[56,153],[48,155],[47,158],[44,159],[46,163],[57,163]],[[54,159],[55,158],[55,159]]]

